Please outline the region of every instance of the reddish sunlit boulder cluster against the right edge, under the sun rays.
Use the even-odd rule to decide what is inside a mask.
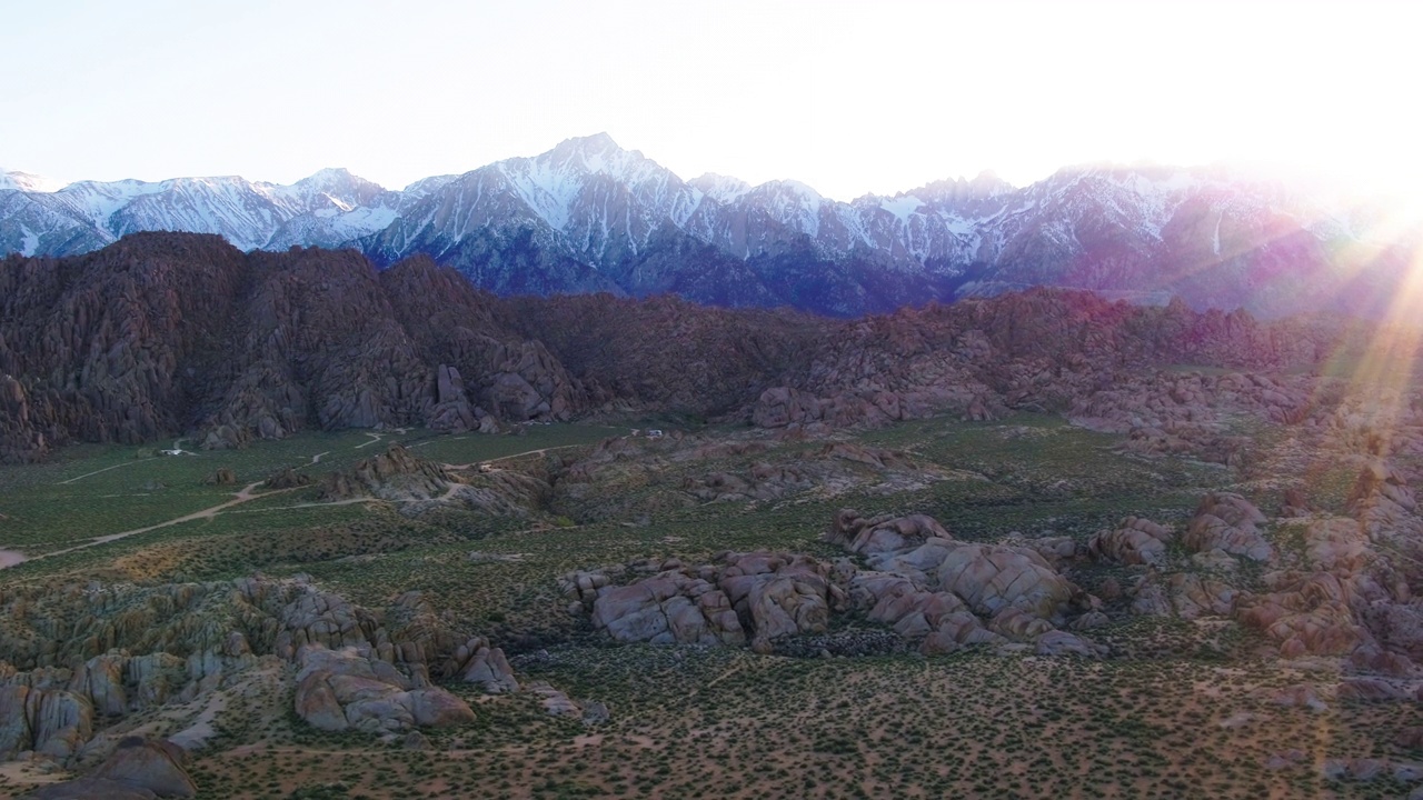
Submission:
[[[1423,601],[1410,589],[1423,564],[1423,518],[1412,490],[1396,470],[1370,460],[1349,498],[1353,517],[1311,512],[1298,493],[1285,508],[1291,515],[1279,524],[1298,541],[1291,552],[1271,545],[1268,518],[1229,493],[1205,495],[1180,540],[1127,518],[1093,535],[1086,549],[1146,568],[1123,592],[1134,614],[1234,619],[1276,642],[1284,658],[1336,658],[1360,673],[1339,685],[1340,698],[1412,699],[1423,686]],[[1177,541],[1185,561],[1173,561]],[[1237,585],[1238,559],[1265,569],[1251,591]]]

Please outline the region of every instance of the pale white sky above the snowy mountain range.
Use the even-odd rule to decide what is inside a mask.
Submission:
[[[0,164],[347,167],[386,186],[608,131],[838,199],[1084,161],[1423,186],[1409,3],[0,0]]]

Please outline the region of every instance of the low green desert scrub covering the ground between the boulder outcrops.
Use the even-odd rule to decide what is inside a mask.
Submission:
[[[559,494],[561,471],[616,433],[622,428],[531,426],[524,436],[492,437],[305,433],[169,458],[74,447],[53,463],[0,468],[0,545],[27,554],[61,549],[216,505],[287,467],[319,481],[391,441],[438,463],[502,458],[501,470],[552,475],[554,498],[524,517],[460,508],[407,515],[383,501],[310,505],[319,491],[302,487],[211,520],[30,561],[3,581],[309,574],[369,608],[418,591],[460,629],[504,648],[525,686],[546,683],[573,700],[603,703],[610,715],[583,725],[549,715],[532,692],[490,698],[475,685],[447,682],[443,688],[468,702],[474,722],[383,743],[319,732],[296,717],[290,696],[276,698],[270,707],[219,716],[213,737],[194,754],[202,797],[1386,797],[1402,784],[1331,780],[1312,764],[1323,757],[1423,760],[1395,743],[1397,730],[1417,725],[1412,705],[1281,705],[1274,693],[1301,683],[1323,692],[1339,675],[1282,668],[1272,642],[1234,622],[1134,616],[1121,598],[1104,606],[1110,623],[1089,633],[1107,646],[1103,659],[979,648],[924,658],[906,646],[820,658],[820,646],[797,642],[777,651],[810,653],[793,658],[619,645],[569,614],[558,588],[558,578],[575,569],[643,558],[702,564],[751,549],[841,558],[821,534],[845,507],[867,515],[931,514],[953,537],[975,541],[1009,534],[1083,541],[1126,515],[1180,530],[1207,491],[1241,491],[1262,508],[1278,504],[1279,487],[1251,473],[1288,451],[1291,440],[1278,431],[1262,433],[1266,460],[1241,470],[1130,456],[1118,437],[1040,414],[919,420],[832,440],[902,453],[915,465],[895,471],[857,461],[824,467],[825,441],[706,427],[692,444],[647,444],[615,461],[583,494]],[[689,456],[721,443],[737,447]],[[528,453],[545,448],[556,450]],[[525,456],[511,458],[517,454]],[[828,470],[832,485],[717,501],[686,488],[709,474],[807,463]],[[203,484],[218,467],[232,470],[233,485]],[[1350,470],[1295,474],[1328,511],[1343,508]],[[77,508],[85,498],[87,507]],[[1275,547],[1299,554],[1296,525],[1265,531]],[[1190,561],[1178,541],[1167,555],[1168,569]],[[1097,591],[1128,586],[1146,572],[1077,564],[1072,579]],[[1262,574],[1242,562],[1231,582],[1259,588]],[[832,619],[827,636],[845,632],[888,633],[847,614]],[[1295,750],[1302,760],[1266,767]]]

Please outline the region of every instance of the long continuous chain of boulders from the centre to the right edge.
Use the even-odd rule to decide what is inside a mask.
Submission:
[[[1288,502],[1308,508],[1299,497]],[[1299,554],[1278,551],[1265,535],[1265,514],[1232,493],[1202,497],[1180,530],[1127,517],[1081,542],[1016,535],[963,542],[931,517],[865,518],[845,510],[827,541],[854,558],[729,552],[703,565],[673,558],[575,572],[561,585],[572,612],[619,641],[750,643],[797,655],[892,652],[881,635],[865,639],[865,631],[837,639],[828,621],[852,614],[924,653],[989,643],[1100,655],[1104,649],[1081,632],[1109,622],[1103,601],[1067,575],[1106,562],[1136,571],[1126,586],[1117,578],[1103,584],[1103,596],[1121,601],[1117,608],[1232,619],[1278,642],[1285,658],[1343,659],[1360,675],[1339,685],[1340,698],[1413,698],[1423,601],[1409,591],[1417,579],[1410,548],[1423,541],[1423,522],[1403,477],[1382,463],[1365,467],[1350,508],[1356,518],[1286,520],[1302,534]],[[1264,572],[1251,578],[1242,562]]]

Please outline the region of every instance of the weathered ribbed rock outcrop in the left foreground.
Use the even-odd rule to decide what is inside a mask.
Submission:
[[[519,688],[499,648],[457,632],[418,592],[380,614],[302,577],[31,586],[3,601],[0,757],[91,763],[112,746],[101,727],[228,692],[260,669],[295,686],[310,725],[383,735],[472,719],[437,679]]]

